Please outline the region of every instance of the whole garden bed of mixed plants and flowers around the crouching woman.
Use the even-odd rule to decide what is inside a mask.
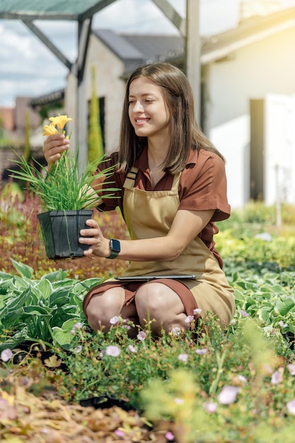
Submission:
[[[174,331],[155,340],[146,325],[131,340],[120,318],[103,335],[81,311],[88,287],[125,264],[48,260],[26,202],[0,212],[1,441],[294,441],[291,229],[263,222],[265,208],[258,222],[258,211],[249,222],[245,210],[219,225],[237,303],[227,330],[208,317],[197,338]],[[117,213],[96,217],[108,235],[126,235]]]

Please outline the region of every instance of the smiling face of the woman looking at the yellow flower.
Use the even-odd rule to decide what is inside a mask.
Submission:
[[[130,84],[129,119],[138,137],[169,136],[168,107],[154,81],[139,77]]]

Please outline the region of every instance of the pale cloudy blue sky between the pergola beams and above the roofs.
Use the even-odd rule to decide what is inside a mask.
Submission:
[[[185,0],[169,1],[185,16]],[[295,6],[295,0],[281,0],[281,3],[283,7]],[[239,13],[240,0],[199,0],[200,34],[214,35],[234,28]],[[74,62],[75,22],[34,23]],[[96,13],[92,28],[119,33],[178,33],[151,0],[117,0]],[[21,21],[0,20],[0,42],[0,107],[13,107],[16,96],[38,97],[64,88],[68,70]]]

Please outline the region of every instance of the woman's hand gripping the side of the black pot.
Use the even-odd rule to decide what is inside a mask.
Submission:
[[[86,225],[90,226],[89,229],[81,229],[79,237],[79,243],[83,245],[89,245],[87,251],[84,251],[84,255],[98,255],[98,257],[108,257],[110,255],[110,241],[103,236],[103,233],[98,226],[96,220],[89,219],[86,221]]]

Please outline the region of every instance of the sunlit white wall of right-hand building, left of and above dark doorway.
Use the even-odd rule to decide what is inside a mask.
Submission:
[[[295,93],[294,47],[295,28],[253,43],[206,69],[207,134],[226,156],[233,207],[245,205],[250,195],[250,99]],[[267,198],[270,204],[272,200],[273,195]]]

